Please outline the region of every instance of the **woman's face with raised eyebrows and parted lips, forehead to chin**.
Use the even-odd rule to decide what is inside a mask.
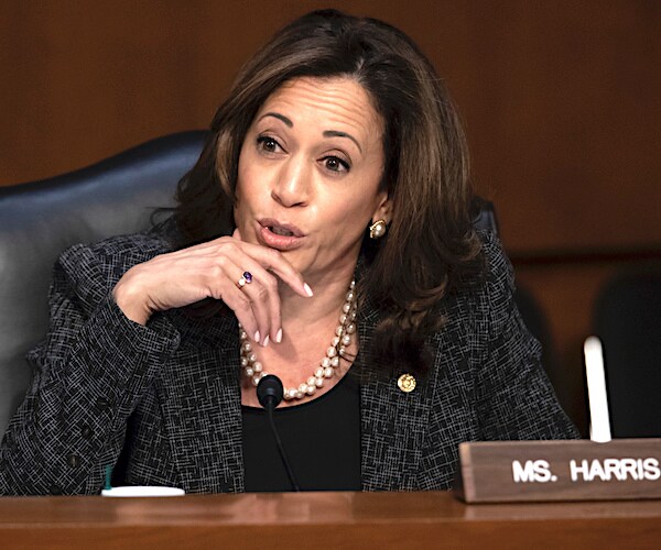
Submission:
[[[257,113],[239,156],[235,221],[281,251],[311,285],[346,280],[365,228],[390,221],[383,122],[348,78],[296,78]],[[340,278],[338,278],[340,277]]]

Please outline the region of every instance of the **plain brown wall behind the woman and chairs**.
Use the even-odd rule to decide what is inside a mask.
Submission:
[[[585,431],[595,297],[661,257],[658,0],[4,1],[0,185],[206,128],[240,64],[326,7],[399,26],[446,80],[476,189],[546,321],[552,382]]]

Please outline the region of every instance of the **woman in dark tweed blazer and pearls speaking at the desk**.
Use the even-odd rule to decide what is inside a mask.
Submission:
[[[237,78],[178,207],[65,252],[35,378],[3,441],[6,494],[447,488],[457,444],[575,437],[470,224],[466,146],[400,31],[336,11]]]

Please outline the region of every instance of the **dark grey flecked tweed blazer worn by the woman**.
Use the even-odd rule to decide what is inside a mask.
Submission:
[[[513,304],[511,266],[483,237],[488,273],[447,298],[415,389],[398,387],[407,365],[368,365],[382,375],[360,385],[366,491],[448,488],[463,441],[577,437]],[[32,386],[0,448],[0,494],[98,494],[107,465],[123,484],[243,490],[236,318],[170,310],[143,327],[111,297],[128,268],[171,248],[152,231],[58,258],[50,332],[29,354]],[[359,311],[361,350],[378,344],[378,318]],[[354,366],[370,361],[361,351]]]

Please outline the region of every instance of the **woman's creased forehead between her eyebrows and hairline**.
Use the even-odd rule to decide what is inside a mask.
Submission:
[[[362,140],[380,139],[383,123],[367,90],[346,77],[300,77],[288,80],[267,98],[256,120],[269,112],[282,114],[293,127],[338,130]]]

